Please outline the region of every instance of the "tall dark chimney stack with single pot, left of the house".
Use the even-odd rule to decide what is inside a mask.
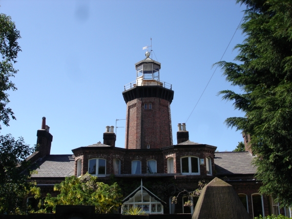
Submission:
[[[37,130],[36,136],[36,151],[39,153],[39,158],[51,154],[51,145],[53,136],[49,133],[50,127],[46,125],[46,117],[41,121],[41,129]]]

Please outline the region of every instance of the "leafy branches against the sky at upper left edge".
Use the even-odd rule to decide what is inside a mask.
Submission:
[[[11,17],[0,14],[0,121],[6,126],[9,125],[10,117],[15,119],[12,109],[6,107],[9,103],[9,95],[6,92],[17,90],[10,77],[14,77],[17,73],[17,70],[13,68],[13,63],[16,62],[17,53],[21,51],[17,42],[19,38],[19,31],[15,28]]]

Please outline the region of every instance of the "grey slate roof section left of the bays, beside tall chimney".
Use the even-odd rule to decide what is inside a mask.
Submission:
[[[32,174],[31,177],[42,178],[73,176],[74,160],[74,155],[47,155],[43,158],[43,160],[35,163],[32,169],[36,170],[37,174]]]

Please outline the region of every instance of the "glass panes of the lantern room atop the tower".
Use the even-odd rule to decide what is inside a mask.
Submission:
[[[153,63],[144,63],[136,67],[137,78],[159,81],[159,66]]]

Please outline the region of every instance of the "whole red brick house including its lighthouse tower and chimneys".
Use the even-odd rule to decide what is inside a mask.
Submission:
[[[279,212],[288,215],[287,209],[279,209],[273,199],[258,192],[261,182],[254,179],[256,168],[247,137],[243,136],[245,152],[216,152],[216,146],[190,141],[185,123],[179,123],[177,143],[173,143],[170,105],[174,91],[160,80],[161,64],[149,52],[145,55],[135,64],[136,80],[122,92],[127,104],[124,148],[115,146],[114,126],[107,126],[103,143],[74,148],[70,155],[51,155],[53,136],[43,117],[37,151],[28,158],[39,167],[31,180],[37,182],[43,197],[48,192],[56,195],[53,186],[65,177],[89,172],[103,182],[114,176],[127,187],[121,211],[134,205],[147,213],[193,213],[197,198],[191,200],[193,207],[185,207],[188,197],[182,191],[194,191],[199,181],[216,176],[234,187],[252,218]],[[172,204],[178,194],[177,204]]]

